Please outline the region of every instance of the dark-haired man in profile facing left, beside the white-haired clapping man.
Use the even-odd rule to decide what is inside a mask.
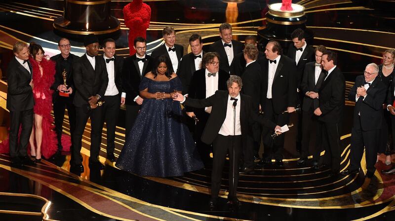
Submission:
[[[326,76],[318,91],[319,106],[314,111],[318,116],[318,133],[322,136],[322,147],[325,150],[323,163],[315,169],[324,166],[331,168],[331,176],[336,176],[340,170],[340,123],[344,111],[344,92],[346,81],[342,72],[337,68],[337,54],[327,50],[322,54],[322,69]]]

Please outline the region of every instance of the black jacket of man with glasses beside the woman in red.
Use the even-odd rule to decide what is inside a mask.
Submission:
[[[79,59],[79,57],[77,55],[74,55],[72,53],[70,53],[69,57],[67,57],[67,59],[71,60],[71,63],[74,63],[77,59]],[[55,81],[53,82],[51,89],[54,91],[53,95],[52,95],[52,102],[55,102],[56,99],[59,97],[59,92],[58,90],[58,86],[60,84],[63,84],[63,69],[61,66],[61,62],[64,60],[64,58],[62,57],[61,54],[57,54],[51,57],[51,60],[54,61],[56,63],[55,65]],[[72,96],[74,95],[74,81],[73,81],[73,66],[70,67],[69,73],[66,74],[66,84],[68,87],[71,87],[73,89],[73,93]]]

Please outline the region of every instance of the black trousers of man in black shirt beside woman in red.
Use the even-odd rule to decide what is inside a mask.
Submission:
[[[76,129],[76,107],[74,107],[73,104],[73,97],[58,96],[53,102],[53,115],[55,118],[55,132],[58,139],[58,151],[62,151],[63,149],[62,131],[65,109],[67,109],[69,115],[70,137],[73,138],[74,130]],[[73,147],[71,147],[70,149],[73,149]]]

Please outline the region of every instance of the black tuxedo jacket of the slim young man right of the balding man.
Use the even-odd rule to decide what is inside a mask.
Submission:
[[[305,73],[303,74],[302,82],[300,83],[300,90],[305,95],[303,98],[303,111],[309,111],[313,108],[313,111],[316,110],[319,106],[318,98],[310,98],[306,96],[308,91],[318,93],[319,88],[321,87],[322,81],[325,78],[325,74],[321,71],[321,74],[318,76],[317,84],[316,84],[316,62],[309,62],[306,64]],[[313,105],[313,107],[312,107]]]

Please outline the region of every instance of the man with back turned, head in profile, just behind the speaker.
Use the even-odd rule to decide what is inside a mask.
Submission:
[[[246,44],[243,50],[243,59],[247,62],[244,74],[241,75],[243,81],[242,92],[252,98],[252,107],[259,111],[261,99],[261,66],[256,62],[258,48],[255,44]],[[243,148],[243,166],[240,174],[247,174],[254,169],[254,156],[258,155],[261,146],[261,125],[257,122],[252,123],[248,128],[248,144]]]

